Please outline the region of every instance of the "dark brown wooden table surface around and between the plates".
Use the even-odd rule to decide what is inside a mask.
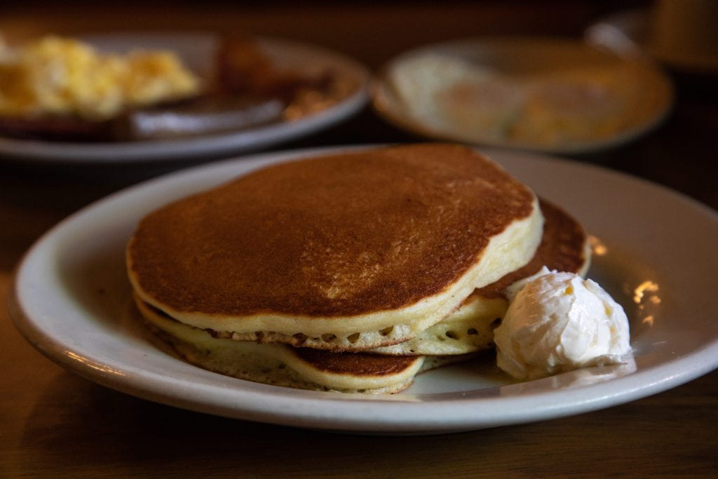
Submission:
[[[103,9],[89,3],[61,9],[31,2],[4,7],[0,30],[10,39],[22,39],[50,31],[129,27],[242,29],[319,42],[376,68],[408,47],[470,34],[577,35],[605,13],[598,3],[302,8],[287,3],[223,9],[208,2],[202,11],[180,3],[168,14],[167,5],[149,8],[134,2]],[[629,172],[718,208],[717,79],[676,74],[676,80],[678,101],[663,126],[633,144],[577,161]],[[330,131],[279,148],[409,139],[367,109]],[[2,297],[23,252],[48,228],[93,200],[161,172],[31,167],[2,160]],[[173,165],[183,166],[188,165]],[[439,436],[363,437],[223,419],[105,389],[37,353],[4,308],[0,364],[2,477],[718,475],[717,371],[655,396],[576,417]]]

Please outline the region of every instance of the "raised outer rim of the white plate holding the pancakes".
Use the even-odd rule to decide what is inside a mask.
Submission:
[[[83,215],[92,213],[93,210],[96,210],[101,205],[112,205],[114,202],[121,200],[123,197],[131,196],[135,190],[151,190],[153,188],[157,188],[158,185],[172,185],[172,183],[182,178],[187,180],[201,172],[205,172],[205,174],[209,175],[210,169],[216,168],[218,171],[221,171],[222,169],[240,163],[247,164],[248,160],[249,163],[251,163],[251,166],[248,168],[251,169],[253,167],[259,167],[261,164],[270,161],[283,161],[284,159],[292,159],[295,157],[299,158],[312,154],[330,154],[332,152],[347,149],[370,148],[374,146],[375,145],[360,145],[296,149],[286,152],[257,154],[246,158],[229,159],[224,162],[202,165],[200,167],[185,169],[180,172],[174,172],[169,175],[157,177],[146,182],[141,182],[138,185],[119,190],[112,195],[108,195],[108,197],[91,203],[85,208],[78,210],[78,212],[73,215],[68,216],[65,220],[60,221],[60,223],[57,223],[57,225],[39,238],[24,254],[22,260],[16,268],[11,283],[8,304],[10,317],[24,338],[26,338],[26,340],[28,340],[28,342],[37,348],[43,355],[47,356],[47,358],[50,358],[52,361],[55,361],[55,363],[60,364],[60,366],[70,369],[70,371],[78,373],[80,376],[88,378],[96,383],[100,383],[103,386],[108,386],[111,389],[116,389],[126,394],[139,396],[141,398],[157,401],[163,404],[169,404],[171,406],[183,407],[185,409],[218,414],[236,419],[313,429],[341,430],[345,432],[370,432],[378,434],[433,434],[554,419],[556,417],[565,417],[572,414],[594,411],[604,407],[633,401],[651,394],[656,394],[660,391],[664,391],[687,381],[691,381],[694,378],[712,371],[718,366],[718,338],[714,338],[712,342],[705,343],[703,347],[691,351],[691,353],[683,355],[679,358],[661,363],[657,366],[645,368],[637,373],[631,374],[630,376],[615,378],[610,381],[590,386],[581,386],[575,389],[541,391],[539,393],[523,396],[517,395],[503,398],[482,397],[477,399],[463,397],[463,395],[460,394],[459,397],[455,399],[442,399],[439,402],[442,405],[442,410],[447,413],[447,415],[444,415],[441,420],[437,420],[435,416],[432,417],[429,415],[429,417],[426,417],[425,415],[419,414],[426,411],[426,404],[429,404],[429,401],[404,401],[401,400],[400,396],[394,396],[398,398],[398,400],[381,401],[381,403],[378,403],[366,396],[335,396],[335,393],[299,391],[279,388],[279,386],[248,383],[247,381],[243,381],[246,383],[244,384],[246,387],[239,388],[239,391],[238,389],[228,391],[226,389],[223,390],[219,386],[213,386],[213,393],[215,396],[213,396],[214,399],[210,401],[206,398],[201,399],[196,397],[194,399],[182,399],[182,397],[177,396],[177,391],[172,392],[167,391],[166,389],[166,386],[172,383],[172,381],[177,381],[176,378],[170,380],[167,377],[154,373],[148,374],[146,371],[146,376],[131,377],[125,374],[118,374],[108,368],[103,368],[103,363],[95,361],[89,357],[83,357],[82,354],[78,355],[75,353],[75,356],[73,357],[73,355],[69,354],[73,353],[73,351],[68,349],[67,345],[63,344],[62,341],[58,338],[52,338],[45,335],[45,333],[37,325],[37,321],[30,317],[27,313],[26,307],[22,304],[22,293],[20,292],[22,274],[24,269],[28,267],[27,265],[30,263],[31,259],[39,255],[37,251],[42,251],[44,246],[52,243],[52,239],[54,239],[56,235],[59,235],[64,229],[70,228],[76,218],[82,218]],[[482,151],[487,152],[487,150]],[[519,155],[528,155],[529,157],[543,156],[533,153],[520,153]],[[570,160],[556,159],[552,157],[544,157],[542,161],[548,161],[549,164],[550,162],[558,161],[564,164],[571,164],[572,167],[578,167],[579,169],[595,169],[605,172],[611,176],[622,177],[630,181],[640,182],[645,185],[650,185],[651,187],[656,187],[661,191],[661,193],[668,192],[672,196],[673,200],[687,202],[691,208],[698,207],[701,214],[708,215],[710,221],[718,222],[718,213],[707,207],[707,205],[703,205],[690,197],[686,197],[679,192],[669,190],[661,185],[656,185],[656,183],[648,180],[643,180],[632,175],[625,175],[623,173],[616,172],[615,170],[607,169],[594,164],[577,164],[576,162],[572,162]],[[82,358],[82,360],[78,358]],[[698,366],[696,366],[696,363]],[[668,370],[670,373],[666,374],[666,371]],[[635,383],[635,378],[637,378],[638,375],[640,375],[640,378],[643,379],[643,386],[639,387],[635,386],[635,384],[630,386],[632,383]],[[154,378],[152,376],[154,376]],[[158,379],[159,382],[156,381]],[[198,386],[199,385],[195,384],[195,389]],[[587,392],[591,393],[588,394],[588,396],[590,396],[589,399],[587,399]],[[317,394],[320,396],[317,396]],[[329,394],[330,396],[322,396],[322,394]],[[238,402],[238,397],[242,399],[249,399],[250,404],[244,404],[243,407],[240,408],[231,406],[231,404],[236,404]],[[551,404],[549,404],[551,403],[551,399],[556,399],[556,397],[559,397],[561,401],[559,401],[559,404],[551,406]],[[567,397],[569,397],[570,401],[566,400]],[[535,407],[536,398],[543,401],[543,406],[539,408],[538,411]],[[230,399],[234,399],[234,401],[231,401]],[[253,402],[251,401],[252,399]],[[325,401],[325,399],[328,399],[328,401]],[[317,401],[320,401],[320,404],[323,406],[320,408],[321,410],[311,407],[312,404],[316,404]],[[482,414],[477,414],[477,412],[472,411],[472,408],[478,409],[476,408],[477,401],[480,402]],[[327,407],[327,403],[330,404],[329,407]],[[228,404],[230,404],[230,406],[228,406]],[[401,407],[404,411],[414,411],[416,414],[377,415],[376,411],[374,411],[373,419],[367,420],[356,416],[345,416],[343,413],[346,412],[346,407],[342,406],[342,404],[352,404],[355,409],[361,409],[365,414],[371,413],[372,409],[376,409],[370,406],[371,404],[381,404],[383,409],[388,409],[389,411],[394,411],[395,409]],[[488,409],[493,408],[492,410],[495,412],[507,404],[514,406],[513,414],[504,414],[503,416],[498,414],[493,417],[493,419],[487,417],[486,411]],[[518,406],[531,407],[521,408]],[[434,407],[436,407],[436,405],[434,405]],[[521,411],[522,409],[523,411]]]

